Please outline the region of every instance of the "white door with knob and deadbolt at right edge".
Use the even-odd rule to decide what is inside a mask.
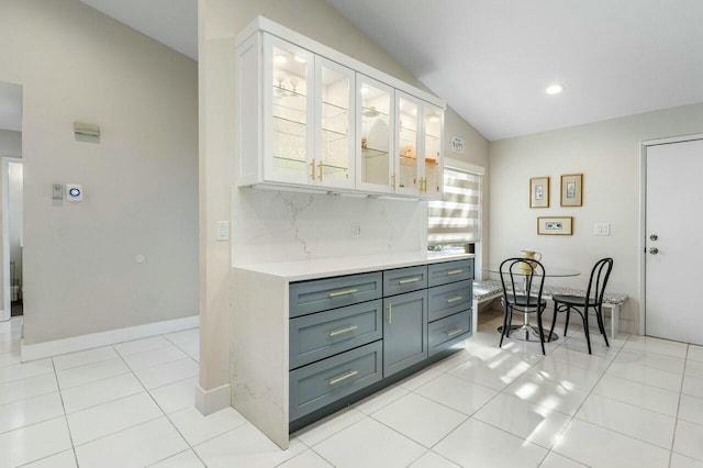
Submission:
[[[645,334],[703,345],[703,140],[649,146],[646,165]]]

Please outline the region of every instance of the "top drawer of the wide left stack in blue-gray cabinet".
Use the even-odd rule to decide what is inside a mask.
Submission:
[[[290,285],[289,316],[336,309],[379,299],[381,272],[342,276]]]

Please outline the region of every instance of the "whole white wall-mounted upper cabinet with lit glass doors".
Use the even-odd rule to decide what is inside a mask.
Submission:
[[[444,102],[258,18],[237,37],[236,183],[442,198]]]

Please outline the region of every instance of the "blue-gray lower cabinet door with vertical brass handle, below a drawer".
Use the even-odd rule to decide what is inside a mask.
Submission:
[[[427,291],[383,299],[383,377],[427,358]]]

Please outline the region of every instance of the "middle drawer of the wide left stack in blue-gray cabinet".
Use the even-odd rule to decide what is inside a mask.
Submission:
[[[349,305],[290,321],[290,368],[381,339],[383,301]]]

